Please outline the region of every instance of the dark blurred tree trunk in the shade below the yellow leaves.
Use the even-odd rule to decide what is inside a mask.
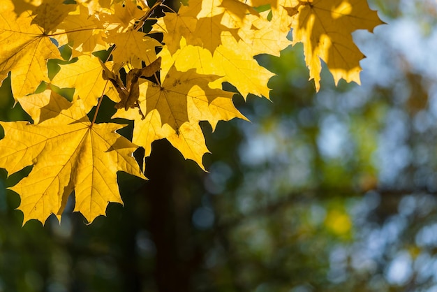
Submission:
[[[159,292],[193,291],[192,273],[200,263],[191,238],[193,194],[188,191],[186,163],[166,140],[154,143],[146,162],[149,181],[144,194],[150,207],[148,229],[156,244],[154,278]]]

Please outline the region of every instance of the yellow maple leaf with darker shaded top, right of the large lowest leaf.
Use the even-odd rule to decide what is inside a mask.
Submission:
[[[202,156],[209,151],[199,122],[209,122],[214,130],[220,120],[246,119],[232,103],[233,93],[208,87],[208,81],[216,78],[195,73],[194,69],[180,72],[172,66],[163,85],[140,85],[138,101],[145,118],[133,109],[119,110],[114,117],[135,120],[132,141],[145,148],[145,156],[150,155],[154,140],[166,138],[185,159],[205,170]]]

